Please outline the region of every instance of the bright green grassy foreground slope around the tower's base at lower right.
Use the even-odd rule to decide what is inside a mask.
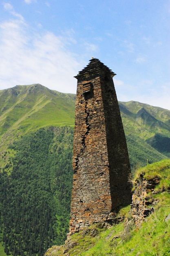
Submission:
[[[149,180],[159,177],[160,183],[153,193],[157,204],[146,222],[137,228],[130,213],[130,206],[122,208],[113,226],[92,225],[71,237],[64,248],[69,256],[168,256],[170,255],[170,160],[162,160],[140,168],[140,174]],[[53,250],[53,253],[52,253]],[[63,247],[53,247],[45,256],[66,255]]]

